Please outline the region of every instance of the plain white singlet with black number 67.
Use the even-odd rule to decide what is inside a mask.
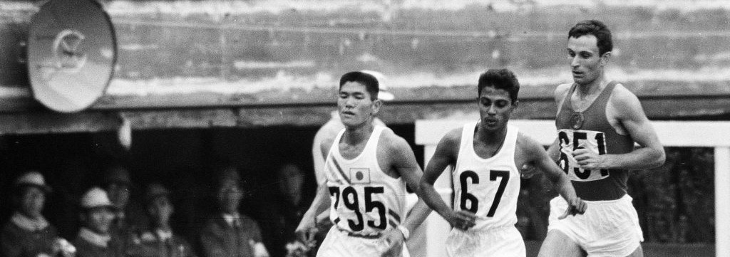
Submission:
[[[507,136],[499,152],[483,159],[474,151],[476,122],[464,125],[453,176],[454,210],[467,210],[477,216],[469,230],[514,227],[517,223],[517,198],[520,170],[515,165],[518,128],[507,125]]]

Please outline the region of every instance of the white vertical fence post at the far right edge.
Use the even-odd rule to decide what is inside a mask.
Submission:
[[[715,250],[730,256],[730,147],[715,147]]]

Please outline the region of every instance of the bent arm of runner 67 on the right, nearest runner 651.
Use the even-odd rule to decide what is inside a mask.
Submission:
[[[565,210],[565,213],[558,218],[562,219],[568,215],[585,213],[587,205],[585,205],[583,200],[577,197],[570,179],[567,175],[565,175],[563,170],[558,167],[556,162],[553,162],[553,159],[550,159],[548,152],[546,152],[545,149],[537,143],[537,141],[534,141],[534,139],[526,137],[521,133],[519,143],[525,146],[527,151],[526,156],[531,157],[529,161],[533,162],[534,165],[538,167],[538,170],[542,170],[545,175],[548,175],[548,179],[553,182],[553,185],[555,185],[556,189],[558,189],[558,193],[566,202],[568,202],[568,209]]]

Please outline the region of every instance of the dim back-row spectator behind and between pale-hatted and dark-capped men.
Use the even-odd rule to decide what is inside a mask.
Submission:
[[[126,239],[133,228],[147,224],[145,210],[138,202],[130,200],[132,184],[129,171],[121,166],[112,166],[104,170],[102,182],[110,201],[116,207],[111,233]]]

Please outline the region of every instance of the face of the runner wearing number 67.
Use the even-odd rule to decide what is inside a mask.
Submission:
[[[512,103],[510,92],[484,87],[479,95],[479,115],[487,131],[503,130],[518,103]]]

